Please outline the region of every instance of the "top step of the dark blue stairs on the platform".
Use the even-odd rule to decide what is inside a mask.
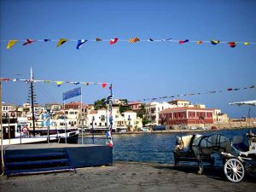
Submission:
[[[29,158],[42,158],[42,157],[57,157],[57,156],[66,156],[64,152],[57,153],[48,153],[48,154],[6,154],[6,160],[15,160],[15,159],[29,159]]]

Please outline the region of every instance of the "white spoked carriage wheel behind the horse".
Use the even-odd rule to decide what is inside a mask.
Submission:
[[[239,183],[244,177],[245,170],[240,160],[230,159],[224,164],[225,176],[233,183]]]

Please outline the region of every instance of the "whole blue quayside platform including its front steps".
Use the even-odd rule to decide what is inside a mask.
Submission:
[[[74,170],[86,166],[113,164],[108,145],[20,144],[4,146],[6,174]]]

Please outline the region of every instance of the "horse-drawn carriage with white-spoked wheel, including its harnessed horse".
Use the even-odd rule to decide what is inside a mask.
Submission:
[[[187,160],[197,160],[201,174],[203,161],[207,160],[212,163],[211,154],[218,153],[224,162],[224,174],[231,182],[241,182],[245,173],[256,177],[256,136],[250,132],[247,137],[248,146],[244,143],[244,137],[241,136],[233,137],[232,142],[228,137],[219,134],[177,137],[173,151],[175,166],[179,160],[186,160],[186,155],[189,154]]]

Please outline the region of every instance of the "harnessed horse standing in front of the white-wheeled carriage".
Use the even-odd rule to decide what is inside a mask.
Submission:
[[[188,135],[177,137],[175,151],[178,152],[180,150],[189,150],[195,154],[198,160],[199,174],[203,172],[202,155],[218,153],[220,158],[222,158],[220,155],[221,152],[236,156],[239,155],[239,151],[231,145],[230,139],[220,134],[212,136]]]

